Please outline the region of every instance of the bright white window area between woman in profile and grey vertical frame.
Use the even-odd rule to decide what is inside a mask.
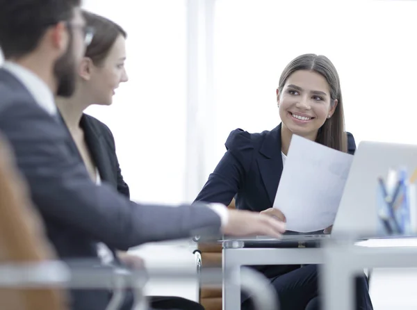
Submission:
[[[183,200],[186,147],[186,6],[181,0],[89,0],[125,28],[129,82],[111,107],[88,113],[113,131],[133,200]]]

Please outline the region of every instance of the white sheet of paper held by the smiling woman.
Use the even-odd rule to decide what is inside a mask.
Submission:
[[[311,232],[333,225],[353,156],[293,135],[274,208],[286,229]]]

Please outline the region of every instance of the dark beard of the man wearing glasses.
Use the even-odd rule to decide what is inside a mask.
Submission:
[[[71,97],[76,87],[76,61],[72,54],[72,40],[68,44],[68,49],[54,65],[54,74],[58,87],[56,95],[60,97]]]

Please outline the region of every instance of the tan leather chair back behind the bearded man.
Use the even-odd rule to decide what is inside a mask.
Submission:
[[[44,236],[42,221],[31,206],[28,190],[13,156],[0,136],[0,264],[42,262],[55,255]],[[1,309],[64,310],[58,288],[0,288]]]

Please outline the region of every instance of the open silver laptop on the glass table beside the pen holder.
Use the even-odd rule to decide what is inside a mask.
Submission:
[[[376,236],[377,178],[386,177],[389,168],[406,168],[411,174],[417,167],[417,145],[370,142],[359,143],[345,183],[332,234],[297,234],[282,236],[281,241],[321,240],[330,236]],[[234,239],[236,240],[236,239]],[[275,240],[267,236],[240,238],[243,241]]]

